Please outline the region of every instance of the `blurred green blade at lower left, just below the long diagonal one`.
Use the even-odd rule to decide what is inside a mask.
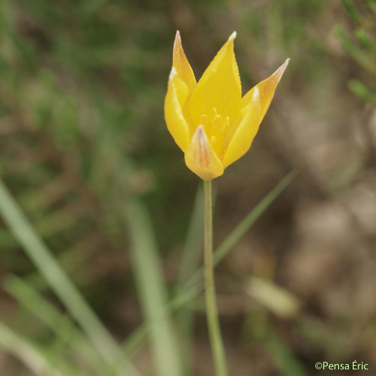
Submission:
[[[104,367],[102,357],[91,343],[78,330],[70,317],[62,314],[48,300],[41,296],[30,284],[16,276],[9,276],[3,282],[4,290],[16,299],[25,309],[48,326],[56,337],[80,355],[93,369]]]

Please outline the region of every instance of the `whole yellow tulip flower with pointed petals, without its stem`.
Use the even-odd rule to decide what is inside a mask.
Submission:
[[[185,164],[203,180],[221,176],[249,150],[289,62],[287,59],[242,98],[235,37],[233,32],[196,83],[176,32],[165,120],[184,153]]]

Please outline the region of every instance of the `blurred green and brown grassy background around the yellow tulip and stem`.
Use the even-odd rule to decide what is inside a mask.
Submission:
[[[251,150],[214,180],[230,374],[374,368],[375,11],[0,2],[0,374],[213,374],[200,180],[163,114],[177,29],[196,79],[236,30],[243,94],[291,59]]]

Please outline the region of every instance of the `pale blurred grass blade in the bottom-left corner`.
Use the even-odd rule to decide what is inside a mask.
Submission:
[[[64,376],[56,370],[45,354],[39,351],[28,340],[12,331],[0,321],[0,346],[16,356],[33,373],[41,376]]]

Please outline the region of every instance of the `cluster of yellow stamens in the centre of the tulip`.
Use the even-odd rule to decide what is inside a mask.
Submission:
[[[218,115],[217,109],[213,107],[209,117],[205,114],[200,116],[199,124],[203,125],[214,152],[218,158],[222,159],[223,139],[230,127],[229,117],[226,116],[223,118],[221,115]]]

